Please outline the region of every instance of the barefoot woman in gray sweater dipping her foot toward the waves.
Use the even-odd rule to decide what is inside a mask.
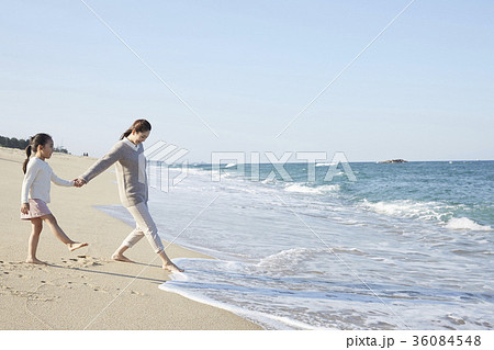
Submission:
[[[151,126],[146,120],[137,120],[123,133],[113,148],[91,168],[80,176],[76,183],[83,185],[93,178],[116,163],[116,180],[122,204],[127,208],[136,222],[136,228],[124,239],[122,245],[113,253],[116,261],[134,262],[124,256],[124,252],[139,241],[144,236],[159,256],[162,268],[169,271],[183,271],[179,269],[165,253],[161,239],[158,236],[153,217],[147,206],[148,188],[146,176],[146,158],[142,143],[149,136]]]

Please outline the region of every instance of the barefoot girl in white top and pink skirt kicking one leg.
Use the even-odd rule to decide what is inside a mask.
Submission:
[[[31,158],[32,153],[35,153],[33,158]],[[64,187],[75,185],[75,181],[58,178],[45,161],[53,154],[52,137],[47,134],[36,134],[31,137],[25,154],[27,158],[22,166],[24,181],[22,182],[21,194],[21,218],[29,219],[32,224],[26,262],[46,264],[46,262],[36,258],[43,222],[48,224],[55,237],[64,242],[70,251],[86,247],[88,244],[77,242],[68,238],[48,208],[50,182]]]

